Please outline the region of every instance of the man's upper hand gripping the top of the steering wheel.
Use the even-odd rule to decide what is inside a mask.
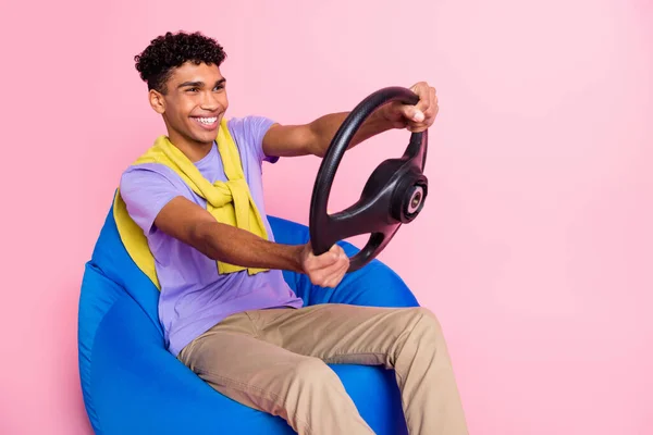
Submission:
[[[423,132],[433,125],[438,116],[438,96],[435,88],[426,82],[420,82],[412,87],[419,101],[415,105],[394,102],[382,107],[382,116],[390,122],[392,128],[407,128],[409,132]]]

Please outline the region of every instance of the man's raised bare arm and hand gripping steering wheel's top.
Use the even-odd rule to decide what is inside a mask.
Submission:
[[[418,83],[410,89],[419,97],[416,105],[391,103],[374,111],[362,123],[348,149],[391,128],[408,128],[411,132],[429,128],[438,114],[435,89],[426,83]],[[335,132],[348,114],[332,113],[304,125],[275,124],[263,137],[263,152],[274,157],[324,157]]]

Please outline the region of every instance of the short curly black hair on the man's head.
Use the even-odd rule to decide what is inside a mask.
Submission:
[[[134,61],[148,89],[165,94],[165,82],[173,69],[188,61],[220,66],[225,58],[226,53],[222,46],[199,32],[193,34],[168,32],[152,39],[140,54],[134,57]]]

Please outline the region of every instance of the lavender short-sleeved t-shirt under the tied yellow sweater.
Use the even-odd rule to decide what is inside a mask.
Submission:
[[[274,236],[263,204],[262,163],[274,163],[279,159],[264,156],[262,139],[272,124],[271,120],[260,116],[234,119],[227,123],[270,240],[274,240]],[[195,165],[211,183],[226,181],[214,144]],[[303,306],[281,271],[219,275],[214,260],[153,226],[159,211],[176,196],[206,208],[206,201],[174,171],[157,163],[130,166],[121,177],[120,189],[130,215],[143,228],[155,257],[161,284],[159,319],[171,353],[176,356],[194,338],[227,315],[246,310]]]

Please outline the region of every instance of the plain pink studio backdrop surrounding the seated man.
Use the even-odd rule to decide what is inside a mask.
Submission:
[[[0,18],[0,433],[90,433],[83,265],[121,171],[162,132],[133,57],[168,29],[225,46],[232,116],[308,122],[433,84],[429,201],[381,259],[440,316],[471,433],[653,433],[651,2],[94,4]],[[348,153],[333,207],[407,137]],[[268,166],[271,213],[307,222],[318,163]]]

